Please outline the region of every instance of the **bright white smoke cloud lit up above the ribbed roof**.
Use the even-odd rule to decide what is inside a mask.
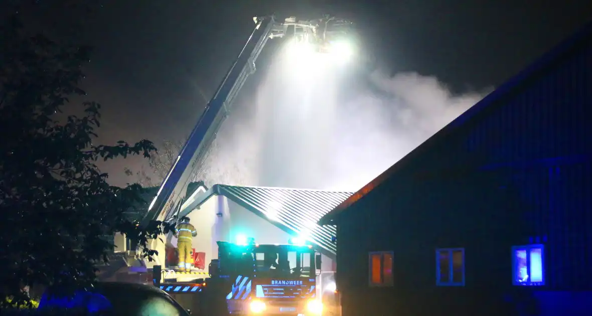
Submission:
[[[208,163],[235,166],[227,184],[356,191],[482,96],[284,51],[223,125],[213,157],[224,159]]]

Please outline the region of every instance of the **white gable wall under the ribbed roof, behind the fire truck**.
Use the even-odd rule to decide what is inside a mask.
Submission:
[[[212,196],[199,209],[190,212],[187,217],[197,230],[197,237],[193,238],[192,246],[197,252],[205,252],[206,271],[211,260],[218,258],[216,241],[233,243],[237,236],[243,234],[246,237],[255,238],[256,243],[260,244],[284,244],[288,243],[291,237],[269,221],[222,195]],[[172,244],[176,246],[176,240],[173,240]],[[332,260],[324,255],[322,260],[322,269],[332,270]]]

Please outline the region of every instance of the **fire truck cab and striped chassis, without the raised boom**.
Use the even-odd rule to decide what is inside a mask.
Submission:
[[[218,241],[210,277],[192,282],[154,282],[198,315],[321,315],[316,280],[321,255],[310,244],[237,244]]]

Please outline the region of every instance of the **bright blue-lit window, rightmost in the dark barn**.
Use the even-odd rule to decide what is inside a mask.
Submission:
[[[514,285],[545,285],[545,251],[542,244],[512,247]]]

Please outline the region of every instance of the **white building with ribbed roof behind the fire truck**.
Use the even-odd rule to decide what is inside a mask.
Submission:
[[[352,193],[220,184],[211,188],[201,185],[192,192],[179,217],[189,217],[197,228],[192,245],[205,254],[205,262],[217,259],[216,241],[252,237],[259,244],[285,244],[292,237],[301,237],[321,253],[322,270],[335,270],[335,227],[317,222]],[[176,246],[173,236],[168,244]]]

